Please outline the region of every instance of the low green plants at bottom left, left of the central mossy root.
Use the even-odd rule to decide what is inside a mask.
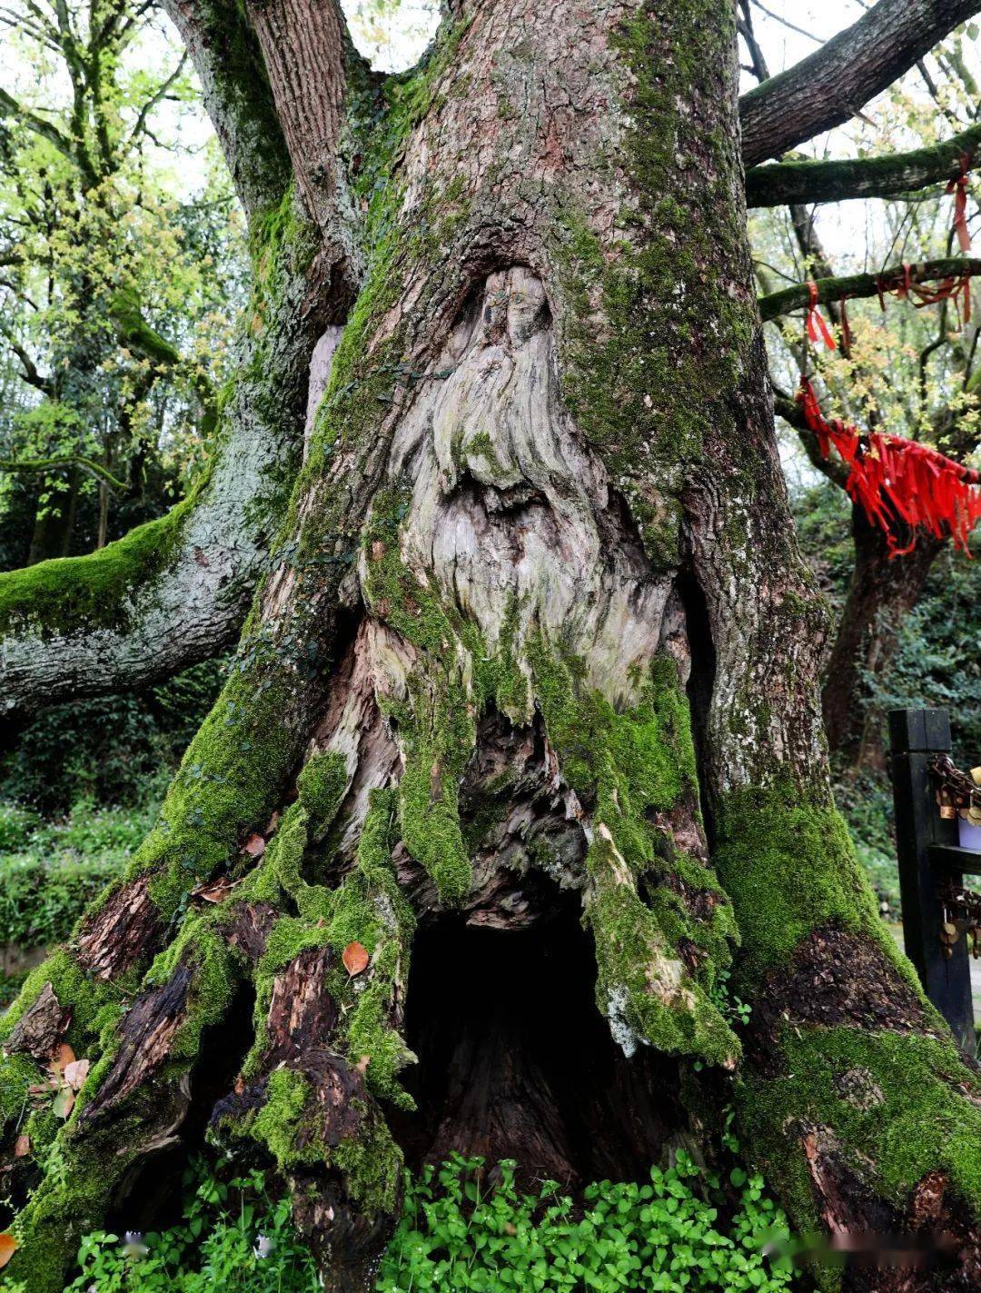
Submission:
[[[288,1199],[273,1197],[261,1171],[225,1177],[194,1164],[180,1222],[137,1244],[106,1231],[85,1235],[81,1274],[66,1293],[315,1293],[313,1257],[293,1234]]]

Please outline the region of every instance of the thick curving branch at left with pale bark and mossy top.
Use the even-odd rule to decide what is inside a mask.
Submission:
[[[206,409],[218,422],[208,473],[167,516],[98,552],[0,574],[6,714],[146,685],[234,641],[302,443],[314,323],[297,309],[309,240],[291,191],[253,221],[253,255],[239,374]],[[129,313],[143,350],[164,356]]]

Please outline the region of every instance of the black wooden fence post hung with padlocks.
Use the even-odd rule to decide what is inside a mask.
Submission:
[[[927,996],[950,1024],[958,1045],[973,1055],[975,1014],[967,937],[962,935],[951,956],[945,956],[944,917],[937,893],[941,879],[960,884],[963,873],[950,866],[938,868],[929,856],[937,846],[944,846],[945,855],[958,846],[956,818],[940,816],[927,773],[932,754],[950,753],[947,711],[892,710],[889,741],[906,956],[916,967]]]

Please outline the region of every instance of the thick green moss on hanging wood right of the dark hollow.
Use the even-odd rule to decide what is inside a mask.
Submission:
[[[657,825],[658,815],[667,821],[677,804],[697,812],[698,803],[677,666],[670,657],[657,659],[637,702],[617,711],[585,687],[579,661],[557,656],[540,637],[529,658],[562,776],[592,808],[587,917],[600,1009],[628,1049],[642,1038],[671,1054],[732,1065],[739,1042],[712,1001],[737,936],[732,909],[711,869]],[[682,948],[689,961],[697,949],[694,968]]]

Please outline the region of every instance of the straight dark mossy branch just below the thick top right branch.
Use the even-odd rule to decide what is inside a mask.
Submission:
[[[849,198],[894,198],[945,184],[971,168],[981,125],[972,125],[942,144],[881,158],[834,162],[799,159],[755,166],[746,172],[748,207],[782,207],[807,202],[844,202]]]

